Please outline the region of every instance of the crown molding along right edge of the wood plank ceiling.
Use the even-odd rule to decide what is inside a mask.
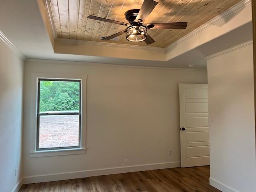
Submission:
[[[168,52],[172,48],[176,47],[177,44],[179,44],[181,42],[186,42],[190,38],[198,35],[200,32],[202,32],[202,31],[206,30],[207,28],[215,25],[216,23],[220,22],[221,20],[224,20],[226,17],[228,17],[228,16],[230,16],[230,15],[236,13],[236,12],[239,12],[241,9],[245,8],[246,6],[248,6],[250,4],[252,4],[252,0],[242,0],[242,1],[240,1],[239,3],[232,6],[231,8],[229,8],[228,10],[223,12],[222,14],[220,14],[220,15],[214,17],[212,20],[208,21],[206,24],[203,24],[202,26],[196,28],[195,30],[193,30],[192,32],[187,34],[186,36],[178,39],[174,43],[167,46],[166,47],[166,52]]]

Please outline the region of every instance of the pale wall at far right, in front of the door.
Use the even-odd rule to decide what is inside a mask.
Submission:
[[[224,192],[256,191],[252,44],[218,54],[207,66],[210,182]]]

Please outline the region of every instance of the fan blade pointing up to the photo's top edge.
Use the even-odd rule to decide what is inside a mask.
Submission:
[[[155,8],[155,6],[158,4],[158,2],[153,0],[144,0],[140,11],[136,17],[136,20],[146,20],[146,18],[149,16],[149,14],[152,12],[152,10]]]

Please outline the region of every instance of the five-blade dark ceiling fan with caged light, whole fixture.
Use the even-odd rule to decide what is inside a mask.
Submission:
[[[126,20],[129,23],[110,20],[102,17],[89,15],[87,18],[110,22],[114,24],[128,26],[126,30],[120,31],[116,34],[103,38],[102,40],[110,40],[117,36],[126,33],[126,39],[131,42],[145,41],[146,44],[154,43],[154,39],[147,33],[148,29],[186,29],[187,22],[176,22],[176,23],[149,23],[144,25],[144,20],[149,16],[152,10],[155,8],[158,2],[153,0],[144,0],[140,9],[128,10],[124,13]]]

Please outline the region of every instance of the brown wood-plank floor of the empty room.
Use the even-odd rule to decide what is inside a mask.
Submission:
[[[25,184],[19,192],[220,192],[209,176],[209,166],[170,168]]]

